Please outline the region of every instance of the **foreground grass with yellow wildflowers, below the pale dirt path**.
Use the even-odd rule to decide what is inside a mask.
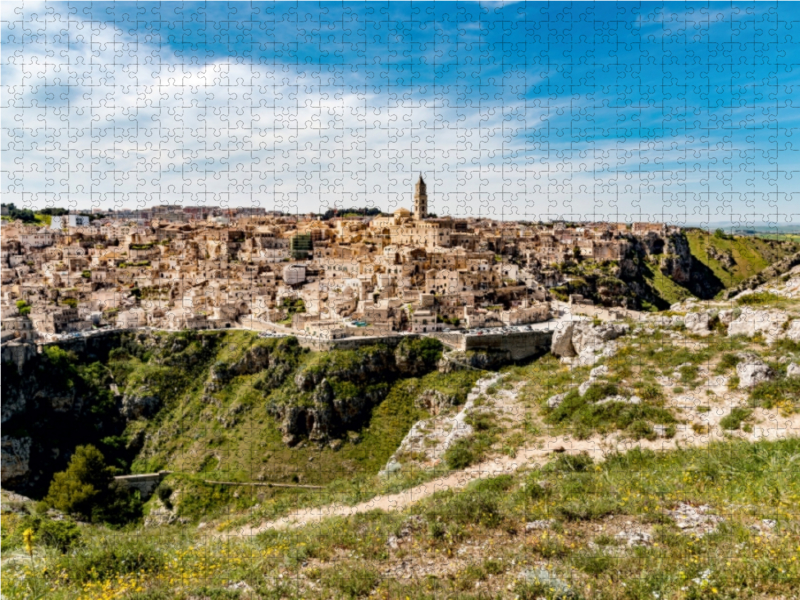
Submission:
[[[84,543],[70,553],[35,543],[37,568],[26,557],[3,562],[3,593],[50,597],[102,593],[150,600],[229,598],[243,582],[257,597],[465,598],[527,594],[521,573],[537,566],[551,584],[584,598],[792,597],[800,586],[800,440],[714,443],[706,448],[654,453],[632,450],[595,463],[558,457],[528,473],[487,478],[463,490],[426,498],[404,511],[371,511],[312,525],[270,530],[256,538],[211,535],[195,527],[164,532],[109,532],[83,528]],[[722,517],[704,536],[676,527],[669,511],[679,503],[705,505]],[[2,521],[3,539],[19,520]],[[550,529],[525,532],[535,519]],[[753,529],[775,521],[772,533]],[[654,544],[628,548],[613,532],[650,531]],[[389,539],[399,540],[390,549]],[[438,568],[404,580],[384,572],[398,561],[438,565],[464,556],[451,573]],[[6,548],[4,548],[5,552]],[[459,557],[460,558],[460,557]],[[288,583],[287,583],[288,582]],[[713,590],[716,589],[717,592]],[[399,596],[397,594],[400,594]],[[244,598],[245,595],[242,595]]]

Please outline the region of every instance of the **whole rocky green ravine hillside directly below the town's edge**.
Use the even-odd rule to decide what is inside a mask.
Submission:
[[[316,483],[377,472],[427,414],[417,396],[464,402],[477,375],[440,373],[441,354],[432,339],[320,353],[246,332],[48,346],[3,367],[3,487],[41,496],[80,444],[121,473]]]

